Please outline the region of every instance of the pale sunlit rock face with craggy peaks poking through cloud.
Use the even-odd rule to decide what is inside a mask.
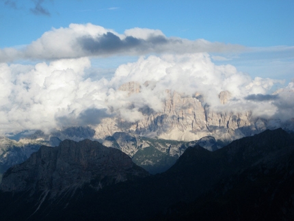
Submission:
[[[139,94],[147,87],[153,90],[154,82],[145,82],[142,86],[137,82],[124,83],[119,90]],[[219,105],[230,101],[232,94],[222,91],[218,94]],[[139,108],[142,118],[129,122],[118,116],[104,118],[95,129],[96,138],[103,139],[115,132],[129,132],[150,138],[167,140],[199,140],[204,136],[213,136],[217,140],[231,141],[244,136],[253,135],[273,129],[275,125],[269,120],[256,118],[250,111],[243,113],[228,110],[213,110],[204,102],[204,96],[196,92],[192,95],[165,90],[165,99],[161,101],[161,110],[155,111],[148,105]],[[132,105],[130,103],[130,108]]]

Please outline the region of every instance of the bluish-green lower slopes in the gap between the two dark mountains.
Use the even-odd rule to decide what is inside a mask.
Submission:
[[[151,174],[168,170],[180,157],[188,146],[200,145],[209,151],[215,151],[222,145],[213,137],[183,142],[163,140],[158,138],[144,138],[131,133],[116,132],[105,138],[103,145],[118,148],[132,157],[133,162]]]

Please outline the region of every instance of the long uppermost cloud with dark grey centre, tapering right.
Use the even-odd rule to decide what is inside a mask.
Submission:
[[[36,12],[41,12],[42,1],[36,1]],[[39,8],[38,8],[39,7]],[[37,10],[38,8],[38,10]],[[46,11],[42,12],[46,13]],[[1,49],[0,62],[14,60],[56,60],[78,57],[105,57],[111,55],[146,55],[148,53],[199,53],[241,51],[237,44],[167,38],[154,29],[129,29],[118,34],[90,23],[70,24],[69,27],[52,29],[23,49]]]

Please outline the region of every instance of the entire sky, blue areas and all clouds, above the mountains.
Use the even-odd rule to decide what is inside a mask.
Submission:
[[[83,125],[93,109],[133,122],[166,89],[293,118],[293,12],[293,0],[0,0],[0,134]],[[126,99],[129,81],[157,90]],[[224,90],[234,99],[219,107]]]

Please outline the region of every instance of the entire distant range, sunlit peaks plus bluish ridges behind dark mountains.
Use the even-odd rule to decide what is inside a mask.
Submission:
[[[157,101],[157,105],[146,103],[137,108],[136,96],[145,90],[156,90],[156,87],[157,83],[152,81],[130,81],[118,88],[118,91],[124,93],[122,99],[126,99],[127,109],[131,113],[139,113],[140,118],[136,120],[124,119],[117,110],[111,111],[114,107],[109,104],[109,113],[90,109],[88,117],[95,118],[93,125],[89,120],[87,125],[64,127],[50,133],[23,131],[1,137],[0,181],[5,170],[25,161],[40,146],[58,146],[66,139],[96,140],[105,146],[118,148],[129,155],[135,164],[155,174],[170,168],[187,146],[195,146],[199,142],[200,146],[215,151],[232,140],[266,129],[282,127],[288,132],[294,131],[293,118],[282,121],[278,118],[257,116],[250,111],[234,112],[230,108],[228,110],[222,107],[216,111],[200,92],[189,95],[165,90],[164,99]],[[219,92],[218,99],[215,102],[225,106],[234,100],[234,96],[225,90]]]

